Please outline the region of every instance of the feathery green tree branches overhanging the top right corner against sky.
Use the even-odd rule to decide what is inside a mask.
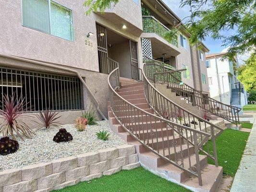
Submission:
[[[222,39],[230,47],[226,57],[253,50],[256,45],[255,0],[181,0],[181,7],[189,6],[187,22],[190,43],[196,44],[207,36]],[[232,36],[223,36],[223,30],[234,30]]]

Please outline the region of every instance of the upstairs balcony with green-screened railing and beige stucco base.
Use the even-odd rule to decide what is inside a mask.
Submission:
[[[178,37],[174,36],[173,38],[167,38],[166,34],[171,30],[166,27],[164,24],[159,22],[153,16],[142,16],[143,21],[143,33],[141,37],[151,40],[152,51],[156,55],[162,55],[162,52],[165,52],[168,56],[174,56],[180,54],[178,48]]]

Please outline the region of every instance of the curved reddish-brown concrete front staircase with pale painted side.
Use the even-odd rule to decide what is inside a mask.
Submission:
[[[145,94],[144,94],[144,86],[143,83],[137,83],[134,80],[121,78],[121,88],[117,90],[117,93],[122,96],[124,99],[134,104],[138,108],[141,108],[151,114],[154,114],[154,110],[150,108],[148,105]],[[179,185],[184,186],[195,192],[215,192],[218,188],[219,182],[222,178],[222,167],[216,167],[215,165],[207,164],[207,156],[200,155],[200,166],[202,170],[202,182],[203,186],[199,186],[198,178],[192,176],[190,173],[183,171],[180,168],[172,165],[170,162],[166,161],[164,158],[156,155],[154,152],[147,149],[143,144],[138,142],[134,137],[126,132],[123,129],[122,125],[116,120],[114,117],[110,103],[108,106],[109,110],[109,120],[112,131],[118,134],[122,139],[124,139],[129,144],[134,144],[136,148],[136,152],[139,157],[139,161],[143,167],[150,170],[151,172],[163,177],[167,180],[171,180],[172,182],[178,183]],[[127,109],[122,108],[122,115],[126,115],[127,126],[129,127],[129,120],[132,116],[136,119],[136,122],[140,121],[136,115],[133,113],[127,115]],[[144,117],[143,117],[144,118]],[[145,119],[144,119],[145,121]],[[219,123],[219,122],[218,122]],[[144,124],[140,124],[140,126],[145,126]],[[155,122],[154,125],[156,127],[156,134],[154,134],[154,138],[149,142],[149,146],[154,146],[157,142],[162,142],[164,146],[168,145],[167,136],[171,136],[174,133],[172,130],[166,129],[166,124],[163,122]],[[162,130],[166,130],[166,134],[162,132]],[[140,131],[139,136],[143,136],[145,133]],[[164,135],[162,135],[164,134]],[[184,168],[189,168],[189,159],[192,166],[196,165],[195,159],[195,150],[194,146],[191,144],[187,144],[184,139],[178,139],[175,137],[175,144],[182,145],[182,150],[176,154],[179,156],[183,156],[184,159]],[[171,151],[171,158],[174,158],[174,147],[169,147]],[[168,154],[164,153],[163,150],[159,150],[160,154]],[[190,157],[190,158],[188,158]],[[168,155],[169,158],[169,155]]]

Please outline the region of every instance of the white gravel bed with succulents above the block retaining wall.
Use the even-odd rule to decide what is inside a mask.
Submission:
[[[108,120],[99,121],[98,125],[88,125],[84,132],[78,132],[73,124],[63,125],[62,127],[72,134],[72,141],[54,142],[52,139],[59,131],[59,128],[41,129],[36,132],[32,139],[25,139],[24,141],[18,138],[18,151],[7,156],[0,156],[0,171],[10,168],[22,168],[27,165],[49,162],[53,159],[95,152],[100,149],[126,144],[122,138],[110,130]],[[108,130],[110,132],[108,141],[102,141],[97,138],[96,132],[99,130]]]

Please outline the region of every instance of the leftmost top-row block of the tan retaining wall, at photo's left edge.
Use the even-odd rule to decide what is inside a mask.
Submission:
[[[0,172],[0,187],[12,185],[21,181],[21,169],[12,168]]]

